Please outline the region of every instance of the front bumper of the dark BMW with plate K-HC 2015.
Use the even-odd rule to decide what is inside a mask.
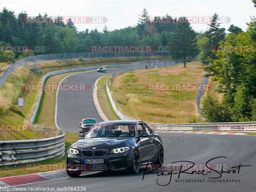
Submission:
[[[132,166],[132,152],[130,149],[124,153],[107,153],[104,157],[83,157],[81,154],[66,154],[66,169],[69,171],[106,171],[125,170]],[[103,159],[101,164],[86,164],[84,159]]]

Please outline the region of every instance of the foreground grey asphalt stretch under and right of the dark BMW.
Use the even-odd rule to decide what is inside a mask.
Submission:
[[[138,174],[127,174],[125,172],[94,172],[78,178],[63,178],[57,180],[44,181],[39,183],[27,184],[20,187],[86,187],[86,191],[255,191],[255,154],[256,154],[256,137],[253,135],[204,135],[204,134],[178,134],[178,133],[161,133],[164,143],[164,164],[171,164],[176,161],[191,161],[195,164],[205,164],[214,157],[224,156],[227,158],[217,158],[210,163],[215,169],[224,165],[225,170],[234,170],[231,167],[241,165],[252,165],[240,167],[236,173],[222,173],[218,180],[231,180],[231,182],[214,182],[214,179],[208,177],[219,177],[220,174],[212,171],[207,175],[196,173],[187,174],[173,171],[170,184],[170,171],[165,171],[166,176],[157,176],[157,174],[146,174],[142,180],[145,167],[141,167]],[[186,162],[180,162],[187,164]],[[190,163],[191,164],[191,163]],[[185,165],[184,165],[185,166]],[[195,165],[196,166],[196,165]],[[211,167],[211,166],[210,166]],[[209,170],[208,170],[209,171]],[[211,170],[210,170],[211,171]],[[218,169],[220,172],[220,170]],[[147,173],[148,171],[146,171]],[[202,172],[202,170],[201,170]],[[160,174],[161,172],[159,172]],[[191,172],[190,172],[191,173]],[[206,171],[204,172],[206,174]],[[158,180],[157,180],[158,179]],[[188,182],[188,180],[197,180],[199,182]],[[186,182],[187,180],[187,182]],[[204,182],[200,182],[200,181]],[[210,180],[210,181],[208,181]],[[212,182],[211,182],[212,180]],[[232,182],[232,180],[234,180]],[[237,182],[235,182],[237,180]],[[240,182],[238,182],[240,180]],[[158,181],[160,186],[156,183]],[[207,182],[208,181],[208,182]],[[12,190],[12,189],[11,189]]]

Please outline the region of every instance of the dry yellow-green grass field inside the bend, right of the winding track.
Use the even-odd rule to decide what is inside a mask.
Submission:
[[[171,124],[203,122],[195,103],[197,89],[172,89],[172,85],[198,85],[204,73],[200,62],[188,63],[186,68],[136,70],[115,76],[110,89],[119,111],[132,119]],[[171,89],[149,90],[149,84],[171,85]]]

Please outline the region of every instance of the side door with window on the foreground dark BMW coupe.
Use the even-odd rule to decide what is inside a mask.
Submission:
[[[137,130],[138,130],[138,135],[142,131],[147,132],[143,123],[138,124]],[[140,137],[140,141],[139,141],[140,161],[148,161],[152,153],[152,150],[153,149],[152,149],[151,137],[149,135],[145,137]]]

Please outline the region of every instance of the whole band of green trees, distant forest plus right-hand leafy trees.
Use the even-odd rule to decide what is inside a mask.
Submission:
[[[256,1],[252,1],[254,6]],[[72,19],[63,22],[46,13],[37,17],[52,19],[51,23],[24,23],[26,12],[15,15],[4,8],[0,12],[0,46],[44,46],[44,52],[0,52],[0,62],[52,53],[88,52],[89,46],[154,46],[168,47],[170,58],[186,62],[199,54],[206,76],[218,83],[216,91],[223,93],[219,101],[207,95],[203,102],[203,116],[208,122],[256,121],[256,19],[248,28],[230,25],[220,27],[217,13],[204,32],[196,32],[186,17],[172,20],[166,15],[149,20],[144,8],[137,25],[109,31],[98,29],[78,31]],[[22,20],[23,19],[23,20]],[[152,18],[151,18],[152,19]],[[154,22],[160,20],[161,22]],[[172,20],[172,22],[164,22]]]

